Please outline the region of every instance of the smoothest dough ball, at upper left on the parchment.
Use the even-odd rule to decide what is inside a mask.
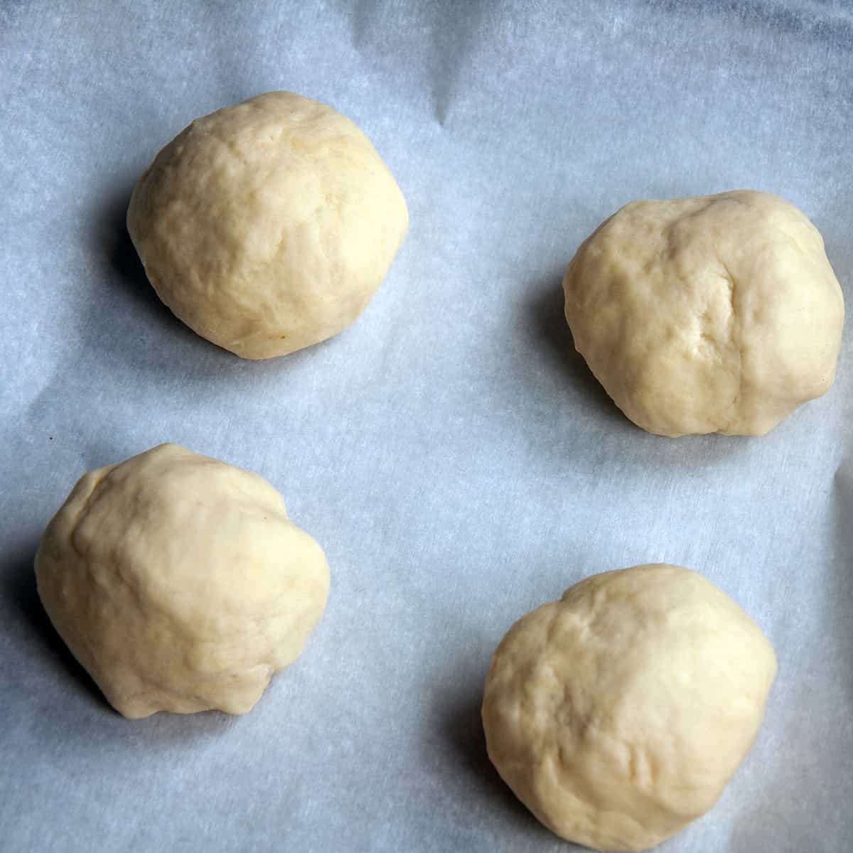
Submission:
[[[408,226],[367,136],[292,92],[196,119],[157,154],[127,212],[160,299],[243,358],[282,356],[349,326]]]

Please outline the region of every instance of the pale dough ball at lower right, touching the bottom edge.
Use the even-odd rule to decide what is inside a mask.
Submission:
[[[513,625],[485,684],[489,757],[562,838],[646,850],[711,808],[776,672],[757,625],[704,577],[588,577]]]

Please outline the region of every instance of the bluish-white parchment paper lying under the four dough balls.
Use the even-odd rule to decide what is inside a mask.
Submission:
[[[638,197],[766,189],[850,297],[848,3],[0,5],[0,849],[566,850],[502,785],[490,653],[582,577],[692,566],[780,659],[746,763],[671,853],[853,831],[853,369],[766,438],[656,438],[572,351],[560,275]],[[345,334],[190,333],[124,229],[190,119],[289,89],[355,119],[411,227]],[[85,470],[171,440],[262,473],[332,568],[247,717],[125,721],[38,603]]]

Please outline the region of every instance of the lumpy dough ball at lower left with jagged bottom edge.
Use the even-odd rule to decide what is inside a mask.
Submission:
[[[44,531],[38,595],[125,717],[245,714],[322,615],[322,548],[258,474],[160,444],[90,471]]]

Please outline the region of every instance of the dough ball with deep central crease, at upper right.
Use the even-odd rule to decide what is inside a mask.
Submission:
[[[575,346],[658,435],[763,435],[832,385],[844,298],[804,214],[737,190],[633,201],[563,278]]]

